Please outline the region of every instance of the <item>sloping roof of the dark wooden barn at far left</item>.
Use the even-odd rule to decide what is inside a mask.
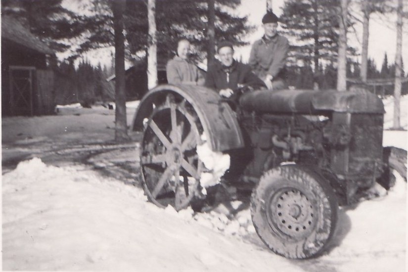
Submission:
[[[11,16],[1,16],[1,39],[23,45],[40,53],[50,55],[55,53],[48,45],[40,41],[38,37]]]

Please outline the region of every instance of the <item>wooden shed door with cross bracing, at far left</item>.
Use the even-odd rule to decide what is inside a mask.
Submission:
[[[12,115],[34,114],[33,91],[35,67],[10,66],[10,111]]]

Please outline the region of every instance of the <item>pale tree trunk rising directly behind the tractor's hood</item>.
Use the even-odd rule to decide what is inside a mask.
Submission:
[[[339,32],[339,51],[337,59],[337,90],[347,90],[347,8],[349,0],[341,0],[340,13],[338,15]]]

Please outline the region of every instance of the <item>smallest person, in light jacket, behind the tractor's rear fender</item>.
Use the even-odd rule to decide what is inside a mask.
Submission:
[[[204,85],[204,77],[189,59],[190,42],[179,41],[177,55],[167,63],[166,73],[169,84]]]

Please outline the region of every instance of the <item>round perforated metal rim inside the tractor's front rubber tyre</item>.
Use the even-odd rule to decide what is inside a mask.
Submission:
[[[272,228],[293,238],[310,233],[316,221],[309,198],[295,188],[283,188],[273,194],[267,215]]]

